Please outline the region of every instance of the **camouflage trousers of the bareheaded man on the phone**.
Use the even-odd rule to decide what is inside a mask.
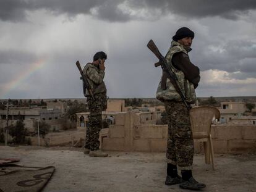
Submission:
[[[87,130],[85,136],[85,148],[91,151],[99,149],[100,130],[102,128],[102,111],[106,110],[106,93],[94,95],[95,100],[87,97],[88,108],[90,115],[88,116],[89,122],[87,123]]]

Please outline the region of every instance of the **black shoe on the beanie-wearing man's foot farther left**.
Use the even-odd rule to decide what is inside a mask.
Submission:
[[[173,164],[167,164],[167,177],[164,184],[175,185],[181,182],[182,182],[182,179],[177,174],[177,166]]]

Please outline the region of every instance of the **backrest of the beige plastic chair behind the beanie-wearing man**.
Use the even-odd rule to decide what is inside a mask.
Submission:
[[[215,119],[220,119],[220,111],[216,107],[198,106],[190,109],[193,138],[208,137],[214,117]]]

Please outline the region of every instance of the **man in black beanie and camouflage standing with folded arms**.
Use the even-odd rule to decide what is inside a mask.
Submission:
[[[176,73],[178,83],[186,96],[188,104],[195,103],[195,88],[200,81],[200,72],[190,62],[188,52],[194,32],[187,27],[177,30],[173,36],[171,47],[166,54],[169,67]],[[194,141],[190,126],[189,111],[187,110],[181,96],[177,93],[169,80],[166,72],[163,72],[161,81],[156,91],[156,98],[164,102],[166,114],[168,115],[168,143],[166,150],[167,177],[165,184],[174,185],[181,183],[181,188],[199,190],[205,184],[198,183],[192,177],[192,164],[194,156]],[[177,174],[181,170],[182,178]]]

